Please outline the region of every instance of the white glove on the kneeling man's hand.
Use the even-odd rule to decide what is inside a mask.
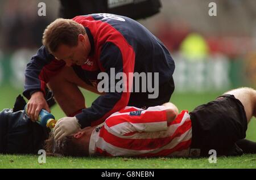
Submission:
[[[64,117],[57,121],[53,135],[55,140],[61,140],[65,136],[71,135],[80,130],[80,124],[77,122],[76,117]]]

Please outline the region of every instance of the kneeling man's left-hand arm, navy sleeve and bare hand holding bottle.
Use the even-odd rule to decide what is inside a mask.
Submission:
[[[44,46],[38,50],[27,64],[23,95],[29,99],[27,114],[32,121],[38,119],[41,109],[46,109],[50,112],[44,99],[44,89],[49,78],[57,74],[63,66],[65,66],[65,63],[57,61]]]

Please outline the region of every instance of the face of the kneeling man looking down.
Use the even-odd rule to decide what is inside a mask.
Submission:
[[[89,53],[89,40],[86,39],[86,35],[79,35],[77,46],[71,47],[65,44],[60,44],[56,52],[52,54],[56,59],[65,61],[67,66],[71,66],[72,64],[82,66],[87,61]]]

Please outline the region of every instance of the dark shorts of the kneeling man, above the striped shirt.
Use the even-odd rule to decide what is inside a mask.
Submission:
[[[162,105],[170,101],[174,88],[174,78],[171,78],[166,83],[159,85],[159,94],[157,98],[148,98],[150,93],[147,92],[130,93],[130,99],[127,106],[147,109],[150,106]]]

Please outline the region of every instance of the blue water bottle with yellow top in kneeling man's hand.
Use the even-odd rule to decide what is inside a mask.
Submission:
[[[27,105],[25,106],[24,111],[27,114]],[[48,127],[51,129],[54,128],[55,124],[57,123],[55,117],[45,109],[40,111],[38,120],[36,122],[43,127]]]

